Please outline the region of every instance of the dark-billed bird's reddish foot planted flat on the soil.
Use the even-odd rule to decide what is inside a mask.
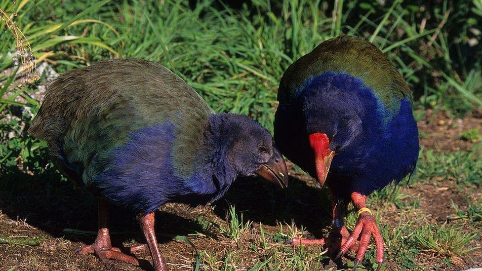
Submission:
[[[124,254],[117,247],[112,247],[109,236],[109,230],[100,229],[91,245],[83,245],[76,250],[79,254],[95,254],[102,263],[109,263],[109,260],[120,260],[134,266],[139,266],[139,261],[132,256]]]

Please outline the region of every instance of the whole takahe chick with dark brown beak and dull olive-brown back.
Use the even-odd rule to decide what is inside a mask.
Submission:
[[[48,143],[56,166],[99,197],[99,232],[81,254],[139,261],[111,245],[107,202],[137,214],[155,270],[167,270],[154,232],[166,202],[219,199],[238,176],[282,187],[287,171],[270,133],[247,116],[214,114],[167,68],[109,60],[55,79],[29,130]],[[131,249],[131,251],[135,251]]]

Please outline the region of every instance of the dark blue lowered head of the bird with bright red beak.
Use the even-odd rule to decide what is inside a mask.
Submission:
[[[333,158],[361,133],[363,107],[357,97],[346,91],[322,86],[306,96],[303,113],[316,178],[323,185]]]

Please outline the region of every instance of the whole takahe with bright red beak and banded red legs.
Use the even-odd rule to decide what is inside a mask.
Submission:
[[[321,185],[326,181],[333,212],[329,238],[289,242],[325,245],[339,250],[338,258],[360,236],[355,270],[373,235],[380,268],[383,239],[365,199],[415,168],[418,130],[405,80],[372,43],[343,36],[322,42],[291,64],[281,78],[278,100],[277,147]],[[358,210],[351,234],[340,208],[350,198]]]

